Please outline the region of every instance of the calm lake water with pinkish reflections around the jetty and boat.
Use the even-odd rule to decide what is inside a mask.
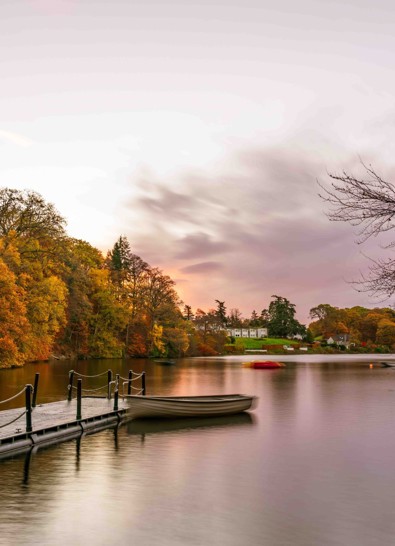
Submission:
[[[130,423],[1,461],[0,544],[392,546],[395,370],[355,357],[270,371],[243,360],[78,363],[145,369],[148,394],[259,404],[250,417]],[[76,366],[2,371],[0,399],[36,371],[39,402],[64,398]]]

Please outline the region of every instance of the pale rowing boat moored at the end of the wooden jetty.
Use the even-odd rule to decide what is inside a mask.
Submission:
[[[212,396],[141,396],[124,397],[132,418],[174,419],[177,417],[214,417],[234,415],[256,404],[255,396],[224,394]]]

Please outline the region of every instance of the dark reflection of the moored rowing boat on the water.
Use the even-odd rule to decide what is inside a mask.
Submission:
[[[133,419],[127,423],[128,434],[158,434],[204,428],[223,428],[256,424],[250,413],[222,417],[184,417],[181,419]]]

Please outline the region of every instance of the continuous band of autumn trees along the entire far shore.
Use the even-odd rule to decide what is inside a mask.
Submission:
[[[263,326],[269,335],[312,340],[347,332],[357,343],[395,343],[391,309],[341,310],[320,304],[309,329],[295,306],[273,296],[243,319],[225,302],[195,312],[174,281],[132,252],[120,236],[104,256],[71,238],[54,206],[33,191],[0,189],[0,367],[67,358],[223,354],[226,326]]]

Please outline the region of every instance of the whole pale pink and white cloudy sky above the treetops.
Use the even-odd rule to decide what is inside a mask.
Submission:
[[[195,310],[272,295],[388,305],[350,281],[384,256],[330,222],[317,181],[395,178],[389,0],[2,0],[0,186],[120,235]]]

